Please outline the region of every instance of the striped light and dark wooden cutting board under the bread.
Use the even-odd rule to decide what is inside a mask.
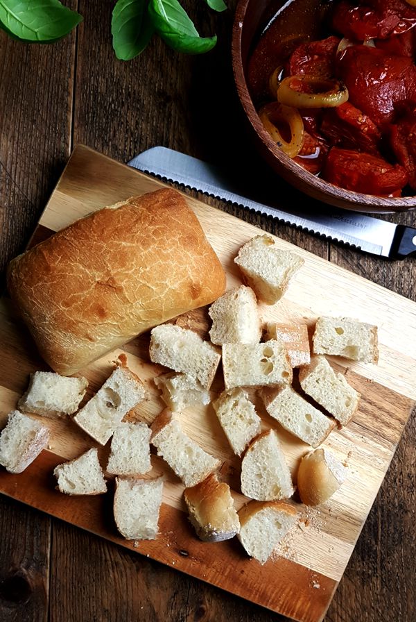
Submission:
[[[31,244],[67,226],[104,205],[133,194],[143,194],[164,184],[125,165],[114,162],[85,146],[73,151],[67,168],[49,200]],[[233,262],[239,247],[259,229],[200,201],[189,198],[202,227],[227,271],[227,287],[241,283]],[[305,260],[284,299],[277,305],[261,306],[263,319],[302,321],[312,329],[318,316],[347,315],[379,326],[378,366],[333,358],[349,383],[361,394],[361,405],[346,428],[332,432],[324,445],[347,463],[348,476],[331,501],[317,510],[297,503],[300,521],[280,550],[261,566],[250,560],[239,541],[205,544],[197,539],[184,513],[183,486],[156,456],[153,473],[165,473],[164,503],[155,541],[132,543],[121,538],[112,518],[112,482],[104,496],[68,497],[55,490],[53,467],[76,457],[92,439],[70,420],[44,419],[51,428],[50,451],[43,451],[19,475],[0,471],[0,491],[73,525],[80,526],[121,546],[174,566],[213,585],[248,598],[302,622],[324,617],[401,432],[416,399],[416,304],[341,269],[311,253],[276,238],[281,249],[293,250]],[[180,319],[207,336],[206,310]],[[15,317],[10,300],[0,301],[0,425],[16,406],[28,382],[28,373],[47,369],[26,329]],[[151,423],[163,404],[152,382],[160,367],[148,359],[148,335],[123,348],[128,364],[146,383],[149,399],[132,417]],[[112,370],[116,351],[83,370],[90,383],[89,396]],[[214,383],[213,398],[221,390],[221,378]],[[261,409],[263,427],[275,428],[281,437],[288,464],[295,477],[297,464],[308,447],[284,432]],[[184,429],[207,451],[223,460],[221,473],[232,488],[237,507],[245,503],[239,494],[239,459],[229,449],[211,406],[189,409],[181,414]],[[103,466],[108,448],[99,448]]]

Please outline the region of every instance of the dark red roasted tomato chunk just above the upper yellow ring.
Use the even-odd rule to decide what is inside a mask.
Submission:
[[[331,78],[335,71],[335,55],[340,40],[328,37],[297,47],[288,62],[291,76],[310,74],[316,78]]]

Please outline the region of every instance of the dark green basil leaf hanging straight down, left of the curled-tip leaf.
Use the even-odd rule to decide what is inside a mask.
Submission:
[[[112,12],[112,43],[119,60],[131,60],[147,46],[154,28],[148,0],[118,0]]]

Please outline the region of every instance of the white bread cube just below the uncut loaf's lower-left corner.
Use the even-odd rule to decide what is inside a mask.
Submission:
[[[17,406],[21,412],[34,412],[45,417],[73,414],[87,390],[87,378],[67,378],[53,371],[31,373],[28,390]]]

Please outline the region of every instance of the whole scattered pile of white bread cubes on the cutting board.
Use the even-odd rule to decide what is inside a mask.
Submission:
[[[73,416],[96,442],[111,439],[106,471],[116,476],[114,519],[127,539],[155,539],[164,478],[146,476],[152,468],[150,445],[184,485],[189,519],[203,541],[238,537],[248,555],[266,562],[295,526],[299,503],[276,430],[261,432],[261,419],[247,389],[257,389],[270,416],[312,451],[297,472],[297,489],[306,505],[324,503],[340,487],[346,468],[326,448],[324,439],[346,426],[360,394],[325,355],[377,362],[377,329],[354,319],[320,317],[312,354],[306,324],[262,326],[257,301],[274,305],[304,260],[281,251],[268,235],[250,239],[234,260],[245,285],[226,292],[209,308],[210,341],[175,323],[156,326],[150,335],[150,360],[171,371],[154,378],[166,409],[153,422],[123,421],[144,401],[141,380],[125,358],[101,389],[80,410],[87,380],[37,371],[8,417],[0,436],[0,464],[21,473],[46,448],[49,428],[26,413]],[[241,457],[241,492],[249,500],[239,512],[227,483],[218,476],[220,460],[209,455],[182,430],[178,412],[211,402],[209,389],[222,360],[224,390],[212,405],[232,451]],[[297,389],[293,369],[299,368]],[[296,374],[297,376],[297,374]],[[321,410],[321,408],[323,410]],[[96,447],[56,466],[58,489],[70,495],[107,491]]]

